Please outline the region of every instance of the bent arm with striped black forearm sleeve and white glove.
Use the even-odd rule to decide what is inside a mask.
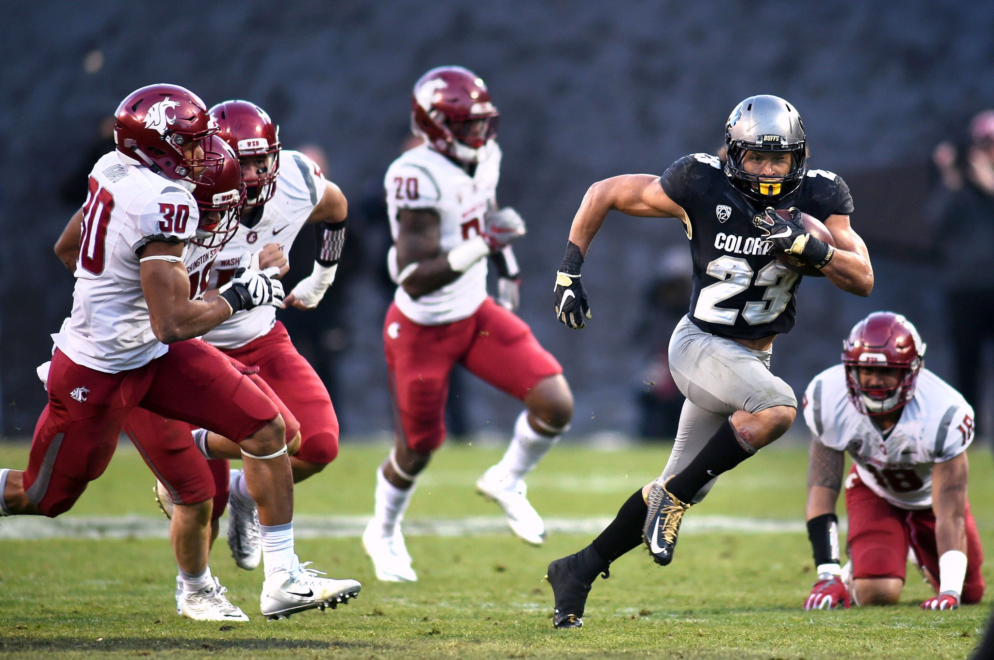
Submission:
[[[308,225],[317,231],[317,253],[311,274],[301,279],[283,301],[283,307],[314,309],[321,302],[325,291],[335,281],[338,261],[345,246],[345,219],[349,215],[349,202],[342,190],[330,181],[325,182],[321,200],[307,218]]]

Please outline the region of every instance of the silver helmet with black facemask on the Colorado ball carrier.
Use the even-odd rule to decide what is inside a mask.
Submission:
[[[806,171],[804,123],[793,105],[771,94],[749,96],[736,105],[725,124],[728,159],[725,174],[746,196],[772,203],[792,193]],[[790,171],[782,177],[758,177],[743,169],[746,151],[788,151]]]

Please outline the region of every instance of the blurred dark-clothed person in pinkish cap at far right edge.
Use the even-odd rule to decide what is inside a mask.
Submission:
[[[994,339],[994,110],[970,122],[965,144],[942,142],[932,154],[941,185],[928,203],[933,243],[942,255],[946,318],[956,365],[954,386],[982,413],[983,347]]]

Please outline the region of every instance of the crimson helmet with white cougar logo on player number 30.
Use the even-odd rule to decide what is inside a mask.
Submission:
[[[150,84],[135,89],[114,113],[117,150],[167,179],[196,183],[199,168],[220,165],[223,156],[204,149],[187,158],[183,148],[218,132],[197,94],[178,84]]]

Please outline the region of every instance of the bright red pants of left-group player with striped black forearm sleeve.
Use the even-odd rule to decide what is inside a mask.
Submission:
[[[224,353],[257,369],[258,376],[299,421],[300,449],[295,458],[320,465],[335,460],[338,415],[321,378],[297,353],[282,323],[276,321],[272,330],[258,339]]]

